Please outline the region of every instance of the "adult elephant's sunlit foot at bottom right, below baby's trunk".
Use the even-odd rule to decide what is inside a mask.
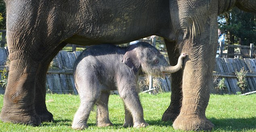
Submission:
[[[188,115],[179,115],[173,123],[174,129],[185,131],[210,131],[213,127],[214,124],[206,118],[191,117]]]

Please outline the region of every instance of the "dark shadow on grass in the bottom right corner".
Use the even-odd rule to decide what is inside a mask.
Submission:
[[[223,118],[209,119],[214,125],[214,130],[243,131],[256,130],[256,117],[253,118]]]

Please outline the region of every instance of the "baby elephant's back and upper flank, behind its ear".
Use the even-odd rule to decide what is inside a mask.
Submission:
[[[105,85],[113,85],[116,71],[124,64],[126,48],[115,45],[94,45],[84,50],[74,64],[74,79],[97,76]]]

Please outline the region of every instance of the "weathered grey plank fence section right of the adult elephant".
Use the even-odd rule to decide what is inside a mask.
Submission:
[[[226,89],[212,89],[212,93],[235,94],[241,91],[237,86],[237,76],[235,72],[239,72],[242,68],[248,71],[246,74],[247,88],[242,92],[256,91],[256,59],[216,58],[213,74],[213,78],[216,79],[214,80],[214,87],[217,87],[218,82],[220,82],[222,78],[225,78]]]

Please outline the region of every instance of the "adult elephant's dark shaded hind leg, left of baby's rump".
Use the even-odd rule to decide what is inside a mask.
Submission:
[[[46,72],[48,70],[49,64],[61,50],[66,43],[61,43],[58,47],[53,50],[48,55],[44,56],[44,60],[40,62],[37,75],[36,75],[36,93],[35,93],[35,110],[39,115],[41,122],[53,121],[53,115],[46,108],[45,97],[46,97]]]

